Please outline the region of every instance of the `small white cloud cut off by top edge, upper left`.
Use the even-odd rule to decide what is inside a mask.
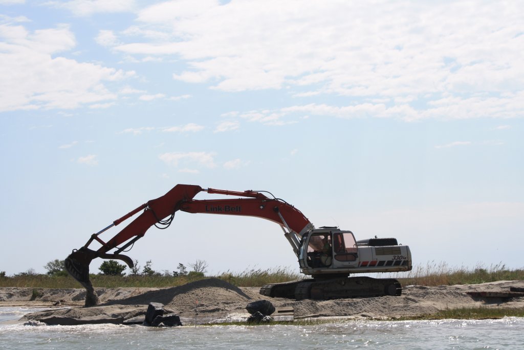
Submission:
[[[135,0],[72,0],[50,1],[46,4],[68,9],[77,16],[90,16],[95,13],[132,12],[136,2]]]

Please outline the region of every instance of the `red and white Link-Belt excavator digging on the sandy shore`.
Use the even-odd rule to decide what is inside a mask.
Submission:
[[[200,192],[235,198],[194,199]],[[260,288],[260,294],[274,298],[326,300],[397,296],[401,294],[402,287],[396,279],[348,276],[354,273],[409,271],[412,268],[409,247],[399,245],[397,239],[375,236],[357,241],[353,232],[348,230],[330,226],[315,228],[300,210],[267,191],[237,192],[179,184],[165,195],[149,200],[91,235],[83,247],[73,249],[65,259],[65,269],[87,291],[86,306],[99,304],[89,279],[91,261],[95,258],[117,259],[133,268],[133,260],[122,252],[131,249],[150,227],[169,227],[179,210],[192,214],[253,216],[280,225],[298,258],[301,273],[311,278],[266,284]],[[140,211],[142,213],[115,236],[102,240],[100,236],[103,232]],[[94,241],[101,245],[97,250],[89,248]]]

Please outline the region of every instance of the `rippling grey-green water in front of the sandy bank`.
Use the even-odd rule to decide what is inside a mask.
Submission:
[[[16,320],[33,310],[6,310]],[[16,308],[11,308],[16,309]],[[7,314],[9,313],[9,314]],[[0,349],[523,349],[524,318],[441,321],[340,321],[298,326],[0,324]]]

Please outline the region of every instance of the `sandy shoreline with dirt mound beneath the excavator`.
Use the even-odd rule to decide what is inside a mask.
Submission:
[[[181,319],[194,320],[195,306],[197,323],[226,320],[235,322],[249,316],[245,307],[256,300],[269,300],[277,309],[292,308],[294,319],[320,320],[417,320],[431,317],[445,310],[524,310],[524,294],[512,298],[494,298],[478,295],[489,292],[498,295],[510,287],[524,288],[524,281],[497,281],[482,284],[439,285],[403,287],[400,296],[378,298],[353,298],[336,300],[301,300],[269,298],[258,294],[258,287],[235,287],[219,279],[205,279],[171,288],[97,288],[100,305],[83,307],[84,289],[36,289],[0,288],[0,306],[39,308],[51,310],[31,313],[23,320],[52,320],[57,324],[67,322],[113,323],[120,317],[127,320],[144,315],[150,302],[165,305],[166,312],[179,314]],[[475,294],[475,292],[477,294]],[[498,294],[497,294],[498,293]],[[30,300],[33,298],[34,300]],[[64,309],[67,307],[67,309]],[[232,316],[233,315],[233,316]],[[497,317],[498,318],[498,317]],[[51,321],[50,321],[51,322]],[[239,321],[242,322],[242,321]],[[47,323],[47,322],[46,322]]]

